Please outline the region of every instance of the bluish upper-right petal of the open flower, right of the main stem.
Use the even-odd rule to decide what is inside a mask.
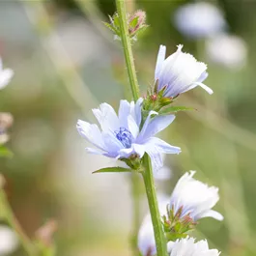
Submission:
[[[143,142],[148,138],[156,135],[159,131],[167,128],[175,119],[175,115],[168,115],[168,116],[156,116],[152,119],[147,118],[140,134],[138,140]]]

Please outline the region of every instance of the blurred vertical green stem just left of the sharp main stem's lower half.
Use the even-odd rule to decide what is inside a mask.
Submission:
[[[132,172],[130,175],[130,185],[131,185],[131,194],[132,194],[132,231],[131,231],[131,247],[134,255],[138,254],[137,247],[137,238],[138,238],[138,230],[140,226],[140,179],[139,174]]]

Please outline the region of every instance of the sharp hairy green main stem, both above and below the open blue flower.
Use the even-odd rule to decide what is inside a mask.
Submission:
[[[131,87],[131,92],[134,100],[139,98],[139,86],[136,77],[136,71],[134,66],[134,60],[131,50],[131,43],[128,35],[128,21],[127,13],[125,7],[125,0],[116,0],[117,12],[119,15],[120,29],[121,29],[121,39],[124,46],[124,53],[126,57],[126,63],[128,68],[128,77]],[[143,179],[146,187],[148,203],[150,208],[150,213],[152,217],[152,222],[154,226],[155,240],[156,240],[156,251],[157,256],[167,256],[167,246],[164,237],[162,223],[160,219],[160,213],[158,210],[158,203],[156,199],[156,187],[153,177],[153,170],[151,159],[148,155],[143,157],[144,173]]]

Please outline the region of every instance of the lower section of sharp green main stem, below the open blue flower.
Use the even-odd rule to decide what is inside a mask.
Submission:
[[[167,256],[166,239],[163,233],[161,217],[158,209],[152,164],[150,156],[147,154],[145,154],[143,157],[143,164],[145,171],[143,172],[142,176],[146,187],[151,219],[154,227],[157,256]]]

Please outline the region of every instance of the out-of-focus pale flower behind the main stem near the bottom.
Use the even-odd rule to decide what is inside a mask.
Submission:
[[[169,197],[158,195],[157,199],[160,215],[166,215]],[[150,213],[145,216],[139,229],[138,248],[144,256],[156,255],[156,242]]]

